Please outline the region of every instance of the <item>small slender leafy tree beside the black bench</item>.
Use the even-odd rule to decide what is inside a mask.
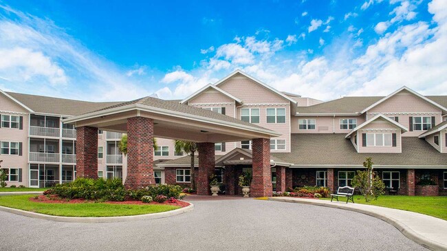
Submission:
[[[373,162],[371,157],[363,162],[363,166],[367,168],[365,171],[357,171],[352,179],[352,186],[358,188],[362,193],[364,200],[369,202],[372,198],[377,199],[384,194],[385,184],[382,179],[373,172]]]

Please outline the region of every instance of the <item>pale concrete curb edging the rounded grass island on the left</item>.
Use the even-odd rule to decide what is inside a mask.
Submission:
[[[29,212],[16,208],[8,208],[6,206],[0,206],[0,211],[11,212],[16,215],[22,215],[25,217],[31,217],[36,219],[46,219],[49,221],[61,221],[72,223],[111,223],[111,222],[127,222],[127,221],[142,221],[146,219],[160,219],[171,217],[175,215],[181,215],[185,212],[194,210],[194,204],[188,202],[190,205],[184,208],[179,208],[167,212],[155,212],[148,215],[130,215],[130,216],[118,216],[118,217],[63,217],[54,215],[43,215],[37,212]]]

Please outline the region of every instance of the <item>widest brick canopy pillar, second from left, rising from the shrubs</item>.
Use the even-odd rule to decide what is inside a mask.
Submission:
[[[153,177],[153,120],[144,117],[127,119],[127,177],[126,188],[154,185]]]

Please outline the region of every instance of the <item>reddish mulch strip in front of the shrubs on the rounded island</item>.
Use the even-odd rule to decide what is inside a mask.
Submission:
[[[31,197],[30,201],[33,202],[42,202],[42,203],[49,203],[49,204],[77,204],[77,203],[93,203],[95,201],[88,200],[88,199],[61,199],[57,195],[50,195],[50,197],[47,197],[46,195],[39,195],[38,197]],[[186,201],[179,201],[177,200],[175,203],[169,203],[168,201],[164,201],[164,203],[158,203],[155,201],[152,201],[150,203],[143,203],[142,201],[136,201],[136,200],[127,200],[127,201],[106,201],[104,203],[107,204],[127,204],[127,205],[171,205],[171,206],[180,206],[182,208],[189,206],[190,204]]]

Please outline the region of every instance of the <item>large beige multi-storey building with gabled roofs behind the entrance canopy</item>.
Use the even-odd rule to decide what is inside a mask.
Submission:
[[[51,186],[76,176],[76,129],[61,119],[120,102],[82,102],[1,91],[2,168],[8,185]],[[206,85],[184,105],[208,109],[281,133],[270,140],[272,186],[349,185],[365,157],[387,187],[402,195],[447,195],[447,96],[422,96],[402,87],[386,97],[328,102],[277,91],[237,70]],[[126,178],[121,133],[98,132],[98,177]],[[190,157],[173,140],[157,138],[157,183],[190,184]],[[215,173],[226,193],[239,194],[237,177],[252,168],[252,142],[215,144]],[[198,160],[196,161],[198,168]],[[435,186],[419,186],[432,180]]]

